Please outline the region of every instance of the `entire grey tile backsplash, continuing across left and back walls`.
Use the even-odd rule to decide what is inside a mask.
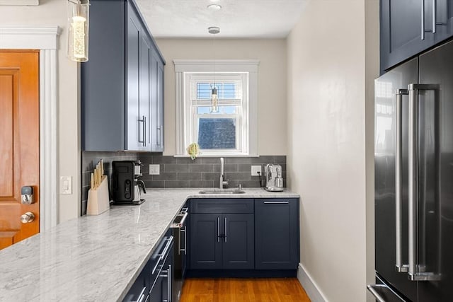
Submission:
[[[86,214],[90,175],[98,161],[104,161],[109,191],[112,185],[112,161],[137,161],[143,163],[142,180],[146,187],[219,187],[220,157],[201,157],[194,161],[187,157],[162,156],[161,153],[131,152],[82,152],[81,213]],[[260,187],[258,176],[251,176],[251,165],[278,163],[282,165],[283,185],[286,187],[286,156],[224,157],[224,179],[227,187]],[[149,175],[149,164],[159,164],[160,174]],[[264,182],[264,177],[262,177]],[[110,197],[111,199],[111,197]]]

